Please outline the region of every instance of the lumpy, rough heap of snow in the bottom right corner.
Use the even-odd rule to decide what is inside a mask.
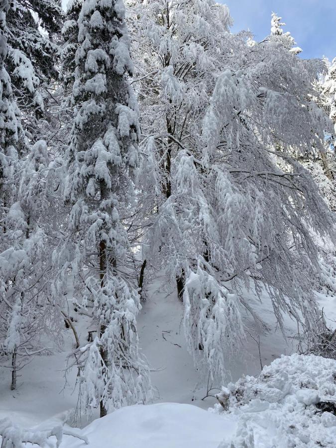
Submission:
[[[258,377],[230,383],[215,410],[237,422],[226,448],[336,447],[336,361],[282,356]],[[334,408],[335,406],[335,408]]]

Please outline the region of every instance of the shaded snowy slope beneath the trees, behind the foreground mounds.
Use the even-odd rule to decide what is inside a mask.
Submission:
[[[276,331],[272,305],[267,296],[260,303],[253,293],[245,293],[249,304],[258,311],[271,327],[270,333],[255,327],[252,319],[245,316],[245,323],[253,337],[260,336],[262,364],[269,364],[282,353],[296,350],[296,325],[288,318],[285,321],[287,339],[279,329]],[[183,305],[177,299],[175,285],[167,283],[164,277],[150,285],[148,300],[143,304],[138,317],[138,332],[142,353],[151,369],[155,402],[195,404],[207,409],[216,399],[207,395],[208,377],[197,371],[192,356],[187,351],[182,324]],[[70,303],[69,297],[69,303]],[[262,310],[262,311],[261,311]],[[75,326],[83,345],[87,343],[88,321],[85,316],[71,311],[77,322]],[[36,425],[55,414],[76,408],[76,369],[72,369],[65,384],[64,370],[67,355],[71,353],[74,338],[70,329],[65,331],[63,346],[50,356],[35,356],[19,374],[16,391],[10,391],[10,370],[0,368],[0,418],[12,417],[22,425]],[[52,341],[47,341],[50,347]],[[220,388],[224,382],[235,381],[241,375],[260,372],[258,345],[247,335],[245,347],[239,356],[228,360],[227,378],[213,387]],[[214,395],[219,390],[212,391]],[[94,416],[98,417],[98,413]],[[88,422],[82,420],[84,426]],[[78,425],[79,423],[77,423]]]

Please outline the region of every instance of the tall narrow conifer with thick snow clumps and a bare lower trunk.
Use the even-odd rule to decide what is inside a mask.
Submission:
[[[84,0],[78,19],[75,104],[64,199],[69,223],[55,252],[65,288],[71,269],[74,300],[92,313],[93,342],[77,353],[86,412],[101,416],[144,402],[148,369],[138,352],[137,290],[125,270],[129,243],[123,225],[138,165],[138,109],[127,82],[133,65],[121,0]]]

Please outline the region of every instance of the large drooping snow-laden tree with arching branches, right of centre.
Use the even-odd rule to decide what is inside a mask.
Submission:
[[[158,17],[154,11],[153,17]],[[272,16],[273,28],[279,20]],[[151,39],[155,41],[157,34],[155,28]],[[183,76],[182,81],[174,75],[179,54],[173,46],[178,40],[175,30],[168,53],[174,62],[168,64],[170,71],[163,69],[162,87],[156,85],[157,75],[143,80],[148,85],[146,102],[158,98],[157,91],[163,98],[167,95],[165,109],[161,101],[158,104],[164,112],[162,123],[148,117],[142,125],[142,129],[150,126],[158,141],[155,146],[150,143],[152,157],[165,160],[151,176],[152,180],[164,176],[161,194],[166,200],[156,199],[161,205],[148,233],[148,256],[161,262],[178,282],[182,278],[190,351],[203,348],[212,374],[223,374],[223,353],[233,351],[236,337],[243,335],[241,306],[262,321],[239,294],[242,285],[253,284],[259,294],[267,289],[280,326],[284,312],[298,321],[303,315],[308,327],[316,325],[312,289],[319,264],[311,229],[332,235],[334,228],[334,218],[319,199],[313,179],[293,157],[323,150],[325,117],[312,100],[317,95],[312,87],[317,74],[297,52],[289,51],[294,42],[289,33],[272,31],[253,46],[246,44],[246,35],[232,41],[226,33],[221,39],[223,48],[226,44],[231,51],[221,58],[224,70],[209,72],[215,84],[200,109],[199,97],[189,103],[193,88],[200,92],[197,75]],[[195,67],[192,64],[190,70]],[[187,79],[190,87],[185,90]],[[210,82],[207,87],[211,88]],[[184,109],[187,104],[189,111]],[[182,128],[175,125],[180,116]],[[161,146],[157,134],[164,119],[172,120],[178,130],[171,134],[167,127]],[[157,191],[156,186],[152,189]]]

